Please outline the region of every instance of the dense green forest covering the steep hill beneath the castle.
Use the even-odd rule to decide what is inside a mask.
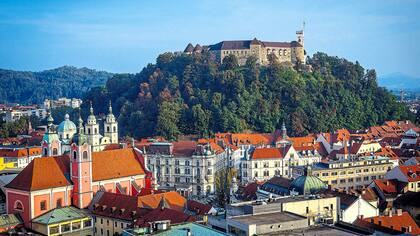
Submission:
[[[259,66],[255,58],[244,66],[234,56],[221,64],[211,58],[162,54],[138,74],[115,74],[104,87],[91,89],[84,110],[92,101],[95,113],[106,113],[112,100],[122,135],[168,139],[179,134],[272,132],[283,120],[292,135],[305,135],[414,119],[378,87],[376,72],[358,62],[324,53],[308,57],[308,65],[298,68],[273,58],[268,66]]]

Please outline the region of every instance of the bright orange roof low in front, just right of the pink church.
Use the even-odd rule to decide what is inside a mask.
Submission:
[[[138,197],[138,207],[155,209],[159,206],[160,201],[164,200],[168,203],[171,209],[177,211],[184,211],[184,206],[187,200],[178,192],[166,192],[159,194],[150,194]]]

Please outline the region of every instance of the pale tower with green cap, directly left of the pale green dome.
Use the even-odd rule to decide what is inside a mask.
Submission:
[[[55,132],[54,118],[51,116],[51,112],[49,112],[47,122],[47,131],[41,141],[42,156],[60,156],[62,153],[61,141],[57,132]]]

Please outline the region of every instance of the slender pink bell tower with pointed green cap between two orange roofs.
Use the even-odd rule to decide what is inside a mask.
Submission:
[[[71,144],[70,174],[73,182],[72,204],[78,208],[88,207],[93,198],[92,149],[83,133],[83,121],[80,117],[78,132]]]

